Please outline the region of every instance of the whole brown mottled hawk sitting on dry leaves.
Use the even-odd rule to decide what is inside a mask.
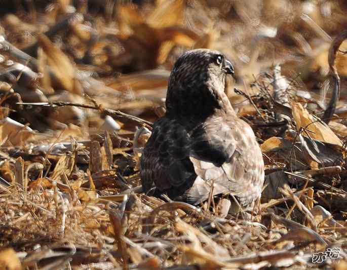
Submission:
[[[213,190],[234,195],[243,207],[260,197],[261,150],[224,93],[227,74],[233,75],[234,67],[218,51],[191,50],[178,58],[166,114],[153,125],[141,156],[146,194],[199,204]]]

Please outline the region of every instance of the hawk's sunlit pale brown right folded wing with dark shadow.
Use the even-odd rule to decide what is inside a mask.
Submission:
[[[190,160],[198,175],[188,191],[199,203],[213,194],[230,192],[248,205],[260,196],[264,180],[261,150],[251,127],[228,116],[212,116],[191,134]]]

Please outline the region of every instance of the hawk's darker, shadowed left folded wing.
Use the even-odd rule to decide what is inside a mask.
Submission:
[[[172,199],[182,196],[197,177],[189,152],[185,128],[173,119],[158,120],[141,156],[144,192],[156,187],[157,195],[167,193]]]

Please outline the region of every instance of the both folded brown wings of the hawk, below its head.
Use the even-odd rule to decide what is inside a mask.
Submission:
[[[177,121],[155,123],[141,157],[144,192],[198,204],[231,192],[242,205],[260,196],[264,164],[252,129],[233,117],[211,117],[187,133]]]

